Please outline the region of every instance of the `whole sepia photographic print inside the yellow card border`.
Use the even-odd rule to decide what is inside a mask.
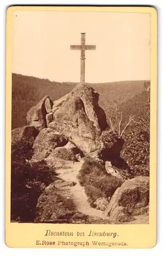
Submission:
[[[13,11],[11,222],[149,224],[151,14]]]

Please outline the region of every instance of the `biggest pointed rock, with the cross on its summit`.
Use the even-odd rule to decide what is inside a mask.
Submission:
[[[98,100],[99,94],[94,89],[78,84],[70,93],[54,101],[52,112],[46,115],[48,126],[62,132],[85,155],[100,151],[103,146],[99,137],[107,122]]]

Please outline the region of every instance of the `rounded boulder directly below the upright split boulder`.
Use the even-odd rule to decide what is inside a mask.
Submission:
[[[67,139],[63,135],[50,128],[44,128],[34,141],[34,158],[46,158],[56,147],[64,146],[66,143]]]

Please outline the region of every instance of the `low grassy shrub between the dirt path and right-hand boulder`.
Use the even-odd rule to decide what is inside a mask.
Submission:
[[[78,178],[85,187],[91,205],[100,197],[112,197],[115,190],[122,185],[120,179],[106,173],[103,164],[90,158],[85,159]]]

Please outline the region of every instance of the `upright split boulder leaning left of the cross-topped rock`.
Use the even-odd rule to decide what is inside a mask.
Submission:
[[[28,125],[35,126],[39,131],[41,131],[43,128],[46,128],[46,114],[51,112],[52,106],[53,101],[49,96],[45,96],[38,102],[36,106],[32,106],[32,108],[27,113]]]

